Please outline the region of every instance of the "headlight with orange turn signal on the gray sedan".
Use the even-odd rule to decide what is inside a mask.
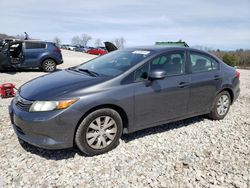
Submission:
[[[75,103],[78,99],[70,99],[63,101],[35,101],[31,107],[30,112],[46,112],[52,110],[59,110],[68,108]]]

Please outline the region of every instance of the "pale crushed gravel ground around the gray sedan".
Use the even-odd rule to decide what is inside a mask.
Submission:
[[[94,56],[63,51],[65,63]],[[44,150],[18,141],[0,99],[0,187],[250,187],[250,71],[224,120],[196,117],[124,136],[113,151],[86,157],[76,149]],[[0,83],[43,75],[0,73]]]

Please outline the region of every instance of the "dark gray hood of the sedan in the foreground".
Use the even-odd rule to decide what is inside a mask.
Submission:
[[[107,77],[92,77],[84,73],[62,70],[25,83],[19,89],[19,94],[28,100],[54,100],[106,80]]]

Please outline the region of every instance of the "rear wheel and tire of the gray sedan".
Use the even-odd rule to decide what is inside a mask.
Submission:
[[[223,119],[231,105],[231,96],[227,91],[220,92],[216,97],[213,104],[212,111],[210,114],[208,114],[208,117],[210,117],[213,120],[221,120]]]

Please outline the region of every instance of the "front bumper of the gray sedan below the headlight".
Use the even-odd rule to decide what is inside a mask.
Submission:
[[[18,109],[12,102],[9,114],[21,140],[44,149],[73,147],[74,132],[80,119],[74,110],[30,113]]]

